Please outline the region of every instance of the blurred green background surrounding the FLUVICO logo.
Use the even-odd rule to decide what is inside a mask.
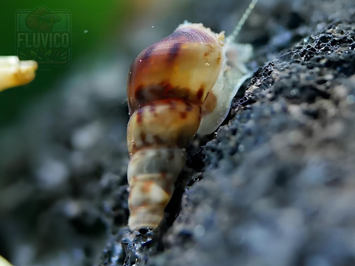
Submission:
[[[88,54],[99,54],[128,19],[129,1],[43,1],[16,0],[0,3],[0,55],[15,55],[15,13],[19,9],[65,9],[72,13],[72,61],[67,66],[40,66],[29,85],[6,90],[0,95],[0,127],[12,123],[34,98],[53,88],[52,84],[72,69],[76,61],[90,63]],[[87,33],[84,33],[87,30]],[[113,45],[113,44],[112,44]],[[119,45],[119,44],[116,44]],[[85,62],[86,61],[86,62]]]

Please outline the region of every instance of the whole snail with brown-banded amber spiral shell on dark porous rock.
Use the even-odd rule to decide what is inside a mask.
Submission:
[[[245,62],[252,47],[234,40],[256,2],[226,39],[224,31],[185,22],[132,62],[127,81],[131,230],[159,225],[184,166],[187,142],[219,127],[250,76]]]

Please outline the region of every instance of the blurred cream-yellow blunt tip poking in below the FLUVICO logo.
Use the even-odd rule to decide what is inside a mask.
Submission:
[[[17,56],[0,56],[0,91],[30,83],[38,64],[20,61]]]

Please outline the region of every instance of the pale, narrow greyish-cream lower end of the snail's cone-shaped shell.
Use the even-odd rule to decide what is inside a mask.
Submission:
[[[132,230],[159,225],[184,162],[180,148],[147,148],[131,157],[127,175]]]

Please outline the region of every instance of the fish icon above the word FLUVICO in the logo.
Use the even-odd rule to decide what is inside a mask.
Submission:
[[[51,14],[46,7],[38,7],[26,17],[26,26],[37,32],[50,32],[61,18]]]

